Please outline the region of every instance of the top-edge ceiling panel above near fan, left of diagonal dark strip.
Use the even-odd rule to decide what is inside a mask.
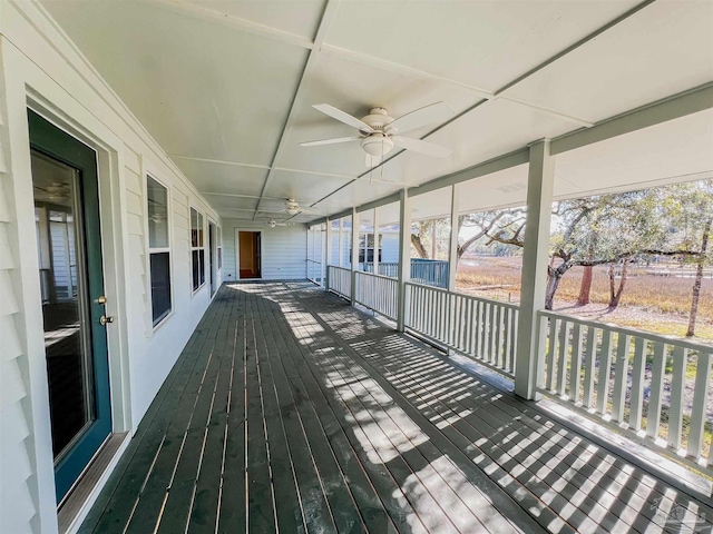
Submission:
[[[343,2],[326,42],[495,91],[636,3]]]

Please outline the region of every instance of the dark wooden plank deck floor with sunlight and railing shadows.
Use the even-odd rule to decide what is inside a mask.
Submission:
[[[710,532],[712,517],[343,300],[265,283],[221,288],[80,532]]]

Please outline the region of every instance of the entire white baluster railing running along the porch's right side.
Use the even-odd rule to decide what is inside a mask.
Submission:
[[[397,319],[394,278],[329,266],[328,289]],[[519,307],[406,283],[406,327],[514,377]],[[697,468],[711,469],[713,346],[538,313],[538,392]]]

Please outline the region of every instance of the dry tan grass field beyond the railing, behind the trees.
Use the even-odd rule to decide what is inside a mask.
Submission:
[[[460,291],[519,301],[521,257],[463,257],[458,265],[457,288]],[[670,269],[675,274],[677,267]],[[596,267],[590,304],[576,306],[582,280],[582,267],[563,277],[555,297],[555,309],[592,319],[615,323],[648,332],[684,336],[691,307],[693,278],[655,276],[646,268],[632,266],[619,307],[611,312],[607,267]],[[687,268],[687,270],[691,270]],[[713,342],[713,278],[703,279],[699,301],[696,337]]]

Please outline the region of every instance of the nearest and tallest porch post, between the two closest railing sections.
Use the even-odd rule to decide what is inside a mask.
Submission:
[[[515,356],[515,393],[529,399],[536,398],[537,382],[543,373],[537,313],[545,308],[554,177],[555,158],[549,154],[549,140],[535,142],[529,154],[527,226]]]

